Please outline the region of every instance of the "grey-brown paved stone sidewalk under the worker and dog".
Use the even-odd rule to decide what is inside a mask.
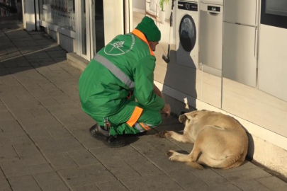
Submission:
[[[130,145],[109,149],[89,135],[79,103],[81,72],[43,32],[0,30],[0,190],[261,190],[287,184],[246,161],[231,170],[194,170],[168,161],[191,144],[157,139],[183,129],[175,117]]]

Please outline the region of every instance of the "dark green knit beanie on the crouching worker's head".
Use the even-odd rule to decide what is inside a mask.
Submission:
[[[135,28],[144,33],[148,41],[159,42],[161,34],[157,25],[154,24],[152,18],[145,16]]]

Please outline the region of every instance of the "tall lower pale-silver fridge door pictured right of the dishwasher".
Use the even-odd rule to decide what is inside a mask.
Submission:
[[[223,23],[223,77],[256,86],[257,28]]]

